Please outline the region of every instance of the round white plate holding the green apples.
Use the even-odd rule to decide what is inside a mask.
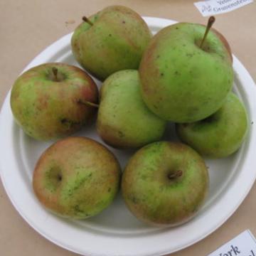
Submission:
[[[145,18],[151,31],[156,33],[174,21]],[[70,50],[71,34],[60,38],[43,50],[27,67],[46,62],[64,62],[77,65]],[[255,181],[255,125],[256,89],[249,73],[233,57],[235,70],[234,90],[247,108],[250,130],[242,148],[227,159],[206,160],[210,171],[210,193],[205,205],[190,222],[177,228],[152,228],[140,223],[117,196],[114,203],[100,215],[83,221],[58,218],[48,213],[36,200],[31,187],[33,167],[41,153],[51,144],[36,142],[23,134],[14,123],[7,95],[0,116],[1,178],[11,202],[18,213],[38,233],[68,250],[81,255],[164,255],[193,245],[216,230],[240,206]],[[173,137],[170,124],[166,139]],[[99,142],[95,127],[78,133]],[[109,147],[110,148],[110,147]],[[132,151],[110,148],[122,166]]]

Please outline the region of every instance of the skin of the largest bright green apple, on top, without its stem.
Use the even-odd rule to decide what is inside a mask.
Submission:
[[[196,122],[216,112],[233,85],[230,48],[215,31],[193,23],[168,26],[149,43],[139,66],[149,109],[173,122]]]

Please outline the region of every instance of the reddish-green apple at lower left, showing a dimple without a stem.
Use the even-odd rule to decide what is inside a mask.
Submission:
[[[105,146],[85,137],[68,137],[38,159],[33,191],[53,213],[83,219],[110,206],[120,177],[119,163]]]

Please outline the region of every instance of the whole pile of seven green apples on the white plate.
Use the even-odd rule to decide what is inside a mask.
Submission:
[[[23,73],[11,90],[23,131],[60,139],[34,169],[38,200],[65,218],[89,218],[110,206],[121,187],[127,207],[145,223],[190,220],[208,193],[203,156],[233,154],[247,132],[245,107],[231,92],[228,42],[210,28],[214,17],[207,26],[176,23],[155,36],[124,6],[82,19],[71,48],[84,70],[45,63]],[[102,81],[100,94],[85,70]],[[104,145],[69,137],[96,114],[106,144],[137,149],[123,172]],[[181,142],[161,141],[168,122],[176,123]]]

